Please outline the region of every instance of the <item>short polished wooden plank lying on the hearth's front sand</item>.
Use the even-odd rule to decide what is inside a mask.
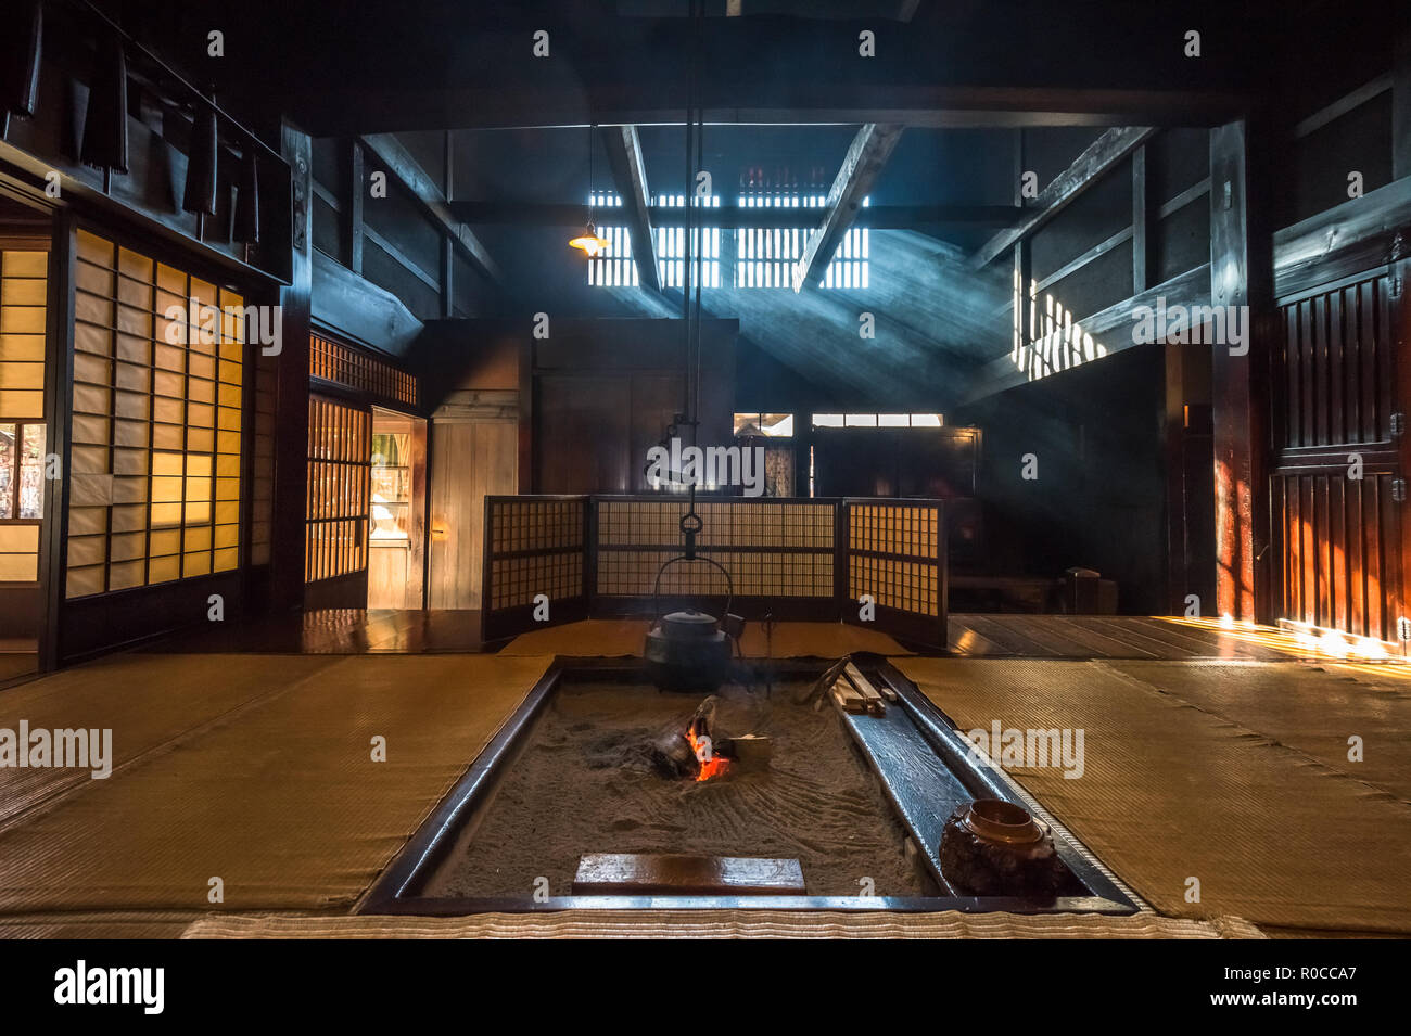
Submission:
[[[797,860],[674,853],[588,853],[573,895],[804,895]]]

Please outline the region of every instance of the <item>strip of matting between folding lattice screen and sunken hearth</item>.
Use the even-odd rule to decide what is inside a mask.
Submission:
[[[645,619],[584,619],[521,633],[501,655],[560,655],[564,658],[641,658],[650,623]],[[741,637],[746,658],[841,658],[852,651],[909,654],[892,637],[847,623],[776,623],[766,639],[759,623],[746,623]]]

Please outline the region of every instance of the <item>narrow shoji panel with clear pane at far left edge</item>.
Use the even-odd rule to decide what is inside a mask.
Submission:
[[[0,251],[0,584],[40,578],[48,264]]]

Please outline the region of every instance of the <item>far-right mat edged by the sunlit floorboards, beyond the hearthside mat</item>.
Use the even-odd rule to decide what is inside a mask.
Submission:
[[[1300,662],[1108,662],[1411,803],[1411,686]],[[1349,739],[1360,739],[1360,760]],[[1411,860],[1407,861],[1411,870]]]

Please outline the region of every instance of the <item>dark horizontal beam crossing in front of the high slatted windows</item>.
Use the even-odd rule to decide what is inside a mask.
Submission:
[[[624,206],[625,207],[625,206]],[[452,202],[457,220],[470,224],[519,224],[525,227],[577,227],[583,223],[581,204],[539,202]],[[813,223],[821,209],[775,209],[722,204],[701,209],[703,227],[753,227],[759,230],[796,230]],[[650,226],[680,226],[683,210],[674,206],[648,206]],[[872,230],[916,230],[943,227],[1009,227],[1022,216],[1009,204],[872,204],[856,211],[855,227]],[[634,245],[635,247],[635,245]]]

